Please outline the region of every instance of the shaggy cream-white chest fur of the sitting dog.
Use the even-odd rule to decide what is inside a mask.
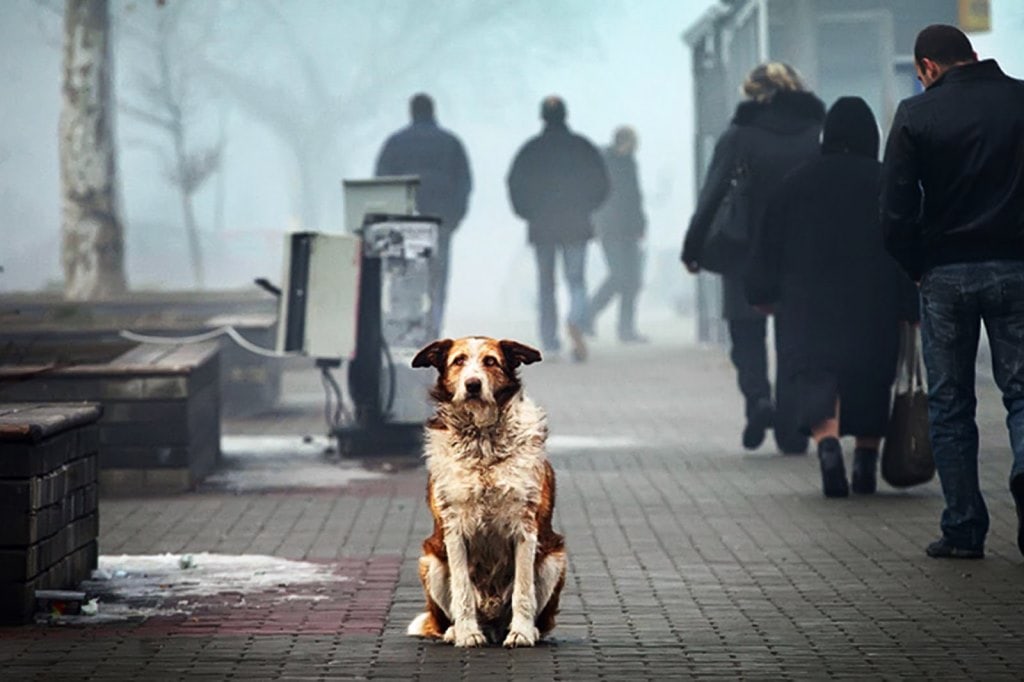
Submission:
[[[487,546],[535,530],[530,526],[544,480],[544,412],[519,396],[489,427],[443,417],[446,428],[429,433],[426,452],[446,529],[471,545]]]

